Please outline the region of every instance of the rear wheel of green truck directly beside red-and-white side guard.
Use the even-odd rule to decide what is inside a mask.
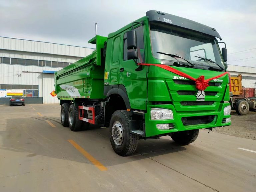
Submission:
[[[74,104],[71,104],[68,110],[68,125],[71,131],[80,131],[82,121],[79,120],[79,110]]]

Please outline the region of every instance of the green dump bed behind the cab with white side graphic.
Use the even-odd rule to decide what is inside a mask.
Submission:
[[[106,37],[97,35],[89,41],[89,43],[96,44],[96,50],[92,54],[55,73],[55,92],[59,99],[105,98],[102,53],[106,40]]]

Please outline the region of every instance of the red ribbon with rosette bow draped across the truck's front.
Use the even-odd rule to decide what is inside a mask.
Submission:
[[[148,63],[138,63],[138,65],[146,65],[146,66],[153,65],[153,66],[157,66],[157,67],[160,67],[160,68],[165,69],[167,71],[170,71],[172,73],[175,73],[176,75],[185,77],[185,78],[190,79],[192,81],[195,81],[196,82],[196,88],[198,90],[202,90],[202,91],[204,91],[209,86],[209,81],[211,81],[213,79],[218,79],[219,77],[222,77],[222,76],[228,74],[228,72],[225,72],[225,73],[222,73],[222,74],[217,75],[215,77],[212,77],[210,79],[204,79],[204,76],[201,75],[197,79],[195,79],[194,77],[191,77],[190,75],[188,75],[186,73],[183,73],[183,72],[181,72],[181,71],[179,71],[177,69],[174,69],[174,68],[172,68],[171,66],[168,66],[168,65],[148,64]]]

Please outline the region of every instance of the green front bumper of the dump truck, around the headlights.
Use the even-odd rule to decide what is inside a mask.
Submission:
[[[176,112],[174,106],[171,104],[147,105],[147,113],[145,114],[145,136],[152,137],[177,131],[228,126],[231,122],[226,123],[226,119],[230,118],[230,115],[224,115],[224,107],[228,105],[230,104],[220,103],[218,111],[182,112]],[[173,119],[151,120],[151,108],[170,109],[173,111]],[[157,124],[169,124],[170,129],[160,130],[157,128]]]

